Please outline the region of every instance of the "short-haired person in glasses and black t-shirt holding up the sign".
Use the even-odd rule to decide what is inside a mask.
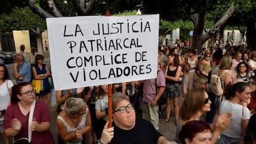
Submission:
[[[97,144],[138,144],[157,143],[175,144],[169,142],[161,133],[156,131],[153,124],[145,119],[136,118],[134,106],[129,96],[115,93],[112,96],[113,127],[108,128],[106,122],[100,140]]]

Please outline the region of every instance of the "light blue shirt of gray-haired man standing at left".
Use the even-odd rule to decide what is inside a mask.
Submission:
[[[26,61],[23,61],[22,64],[18,66],[18,73],[23,77],[23,80],[16,79],[17,83],[31,82],[31,67]]]

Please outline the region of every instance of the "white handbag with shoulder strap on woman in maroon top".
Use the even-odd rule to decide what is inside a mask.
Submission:
[[[30,107],[30,112],[29,112],[29,117],[28,117],[28,138],[20,138],[19,140],[16,140],[14,142],[14,144],[32,144],[32,142],[31,142],[31,140],[32,140],[32,131],[30,130],[30,127],[32,125],[35,103],[36,103],[36,101],[34,100],[31,107]]]

